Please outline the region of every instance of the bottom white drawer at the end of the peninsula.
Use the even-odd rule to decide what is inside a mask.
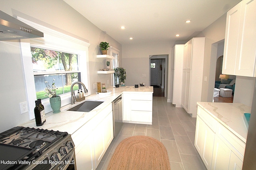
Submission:
[[[131,121],[152,123],[152,111],[131,111]]]

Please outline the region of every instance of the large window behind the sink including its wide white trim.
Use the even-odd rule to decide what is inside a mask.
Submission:
[[[88,59],[88,47],[90,44],[80,39],[76,39],[64,33],[60,33],[58,31],[50,29],[48,27],[44,27],[43,25],[39,25],[37,23],[25,20],[18,16],[17,18],[18,20],[23,21],[24,23],[31,25],[35,29],[42,31],[44,33],[44,37],[42,38],[20,40],[20,49],[22,53],[24,80],[26,85],[28,111],[29,111],[30,119],[35,118],[34,117],[35,100],[37,100],[37,95],[39,95],[37,94],[39,90],[36,90],[37,89],[36,86],[38,86],[39,84],[40,86],[45,86],[44,81],[46,78],[49,78],[48,82],[51,82],[55,77],[54,78],[55,83],[56,84],[57,82],[60,83],[60,86],[58,85],[59,86],[58,89],[60,90],[60,92],[58,93],[60,93],[61,106],[70,104],[71,93],[68,93],[68,91],[66,91],[68,89],[68,88],[66,89],[67,87],[66,80],[70,80],[66,78],[67,75],[71,76],[72,82],[76,80],[83,82],[86,88],[88,89],[88,93],[86,94],[86,96],[90,95],[89,59]],[[38,55],[42,55],[43,53],[47,52],[48,55],[44,57],[41,56],[40,60],[39,59],[36,60],[36,63],[41,63],[41,64],[46,63],[46,66],[37,65],[38,66],[37,68],[32,66],[33,65],[32,63],[35,62],[35,61],[32,62],[32,53],[36,55],[34,53],[36,50],[41,51],[41,53],[38,53]],[[52,54],[56,53],[56,54],[50,55],[49,53],[52,53]],[[63,58],[63,61],[61,59],[61,55],[66,55],[66,57]],[[72,55],[72,58],[71,58],[72,69],[65,70],[65,65],[64,65],[65,63],[67,66],[66,68],[70,68],[69,66],[70,61],[68,56],[71,56],[71,55]],[[54,56],[54,57],[47,58],[48,56],[50,57]],[[40,83],[36,83],[36,79],[39,79],[38,77],[40,76],[42,80],[40,80]],[[44,105],[44,109],[46,113],[52,111],[52,108],[50,107],[49,98],[45,98],[44,100],[42,100],[42,104]]]

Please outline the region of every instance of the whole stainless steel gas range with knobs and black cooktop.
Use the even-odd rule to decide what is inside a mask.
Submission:
[[[0,133],[0,169],[76,170],[74,147],[67,132],[14,127]]]

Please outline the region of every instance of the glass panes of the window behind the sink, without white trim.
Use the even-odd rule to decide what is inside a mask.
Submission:
[[[34,81],[36,86],[36,98],[48,98],[45,81],[50,85],[53,83],[57,88],[56,94],[70,93],[73,82],[81,81],[78,72],[78,55],[64,53],[49,49],[31,47],[32,66]],[[78,84],[74,85],[73,90],[78,90]]]

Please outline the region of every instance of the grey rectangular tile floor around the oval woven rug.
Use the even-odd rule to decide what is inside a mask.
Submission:
[[[124,123],[102,158],[97,170],[106,170],[117,145],[123,139],[146,135],[161,141],[168,152],[171,170],[206,170],[194,147],[196,118],[176,108],[164,97],[153,97],[152,125]]]

